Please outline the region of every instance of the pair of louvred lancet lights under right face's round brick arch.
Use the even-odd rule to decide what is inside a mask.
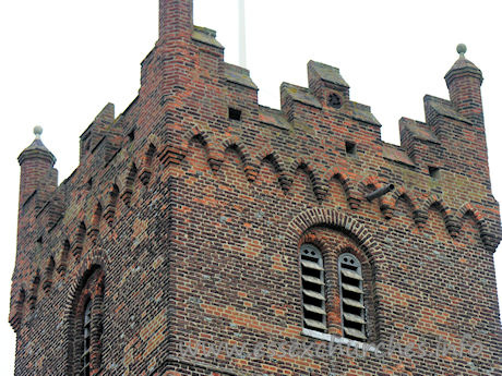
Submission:
[[[325,270],[321,251],[312,244],[300,248],[303,326],[326,332]],[[338,257],[340,319],[344,337],[366,341],[366,308],[361,264],[350,253]]]

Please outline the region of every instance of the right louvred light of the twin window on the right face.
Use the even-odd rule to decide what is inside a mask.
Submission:
[[[352,254],[344,253],[338,257],[338,279],[344,337],[366,341],[361,263]]]

